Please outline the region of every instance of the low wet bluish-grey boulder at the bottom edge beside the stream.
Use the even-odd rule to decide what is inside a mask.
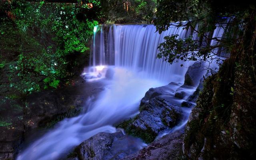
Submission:
[[[143,143],[138,138],[122,132],[100,132],[82,142],[74,150],[72,158],[78,160],[120,160],[141,149]]]

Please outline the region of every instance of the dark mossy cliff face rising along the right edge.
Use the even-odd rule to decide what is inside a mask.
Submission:
[[[243,42],[206,80],[190,114],[183,140],[189,159],[256,157],[255,20],[248,23]]]

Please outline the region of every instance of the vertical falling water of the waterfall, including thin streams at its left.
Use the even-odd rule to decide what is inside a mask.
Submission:
[[[182,82],[187,68],[193,62],[178,61],[170,65],[163,59],[156,58],[156,55],[158,45],[164,42],[165,36],[179,34],[179,38],[184,38],[188,32],[188,30],[173,27],[158,34],[153,25],[112,25],[105,37],[102,37],[102,32],[94,34],[94,37],[96,36],[94,40],[98,41],[96,45],[102,47],[98,50],[97,47],[93,47],[91,57],[96,58],[98,63],[91,66],[93,68],[114,65],[129,68],[139,73],[141,77],[159,80],[166,84],[171,81]],[[107,39],[106,43],[104,39]],[[101,49],[104,46],[108,46],[108,50]],[[184,67],[180,67],[181,64]]]

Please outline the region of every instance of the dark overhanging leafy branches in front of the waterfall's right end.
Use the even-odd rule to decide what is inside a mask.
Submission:
[[[243,36],[246,28],[245,19],[249,17],[252,2],[240,4],[231,0],[222,2],[220,0],[157,0],[157,12],[154,24],[158,32],[168,30],[170,27],[178,27],[188,30],[198,36],[192,39],[188,36],[184,39],[179,35],[165,37],[165,42],[160,44],[158,58],[164,58],[167,62],[176,60],[199,60],[212,62],[221,48],[222,52],[230,52],[239,38]],[[239,4],[239,5],[238,5]],[[184,22],[185,21],[185,22]],[[173,23],[171,23],[173,22]],[[222,37],[213,37],[216,26],[226,26]],[[212,44],[211,41],[216,43]],[[226,57],[220,56],[217,61]]]

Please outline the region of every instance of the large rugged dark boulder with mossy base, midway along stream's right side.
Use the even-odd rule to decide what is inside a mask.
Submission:
[[[180,107],[162,96],[157,96],[140,106],[140,113],[134,119],[120,126],[145,142],[152,142],[160,131],[176,125],[181,116]]]

